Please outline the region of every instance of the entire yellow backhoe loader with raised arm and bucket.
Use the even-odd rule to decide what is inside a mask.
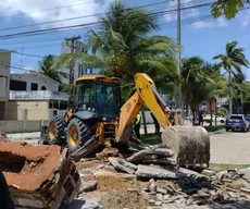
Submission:
[[[100,75],[77,78],[73,106],[64,118],[57,115],[43,127],[42,144],[66,146],[75,157],[86,156],[107,140],[126,146],[142,102],[164,127],[162,142],[175,152],[179,165],[209,165],[207,131],[199,126],[173,125],[171,111],[153,81],[143,73],[135,75],[135,91],[124,104],[121,103],[118,78]]]

